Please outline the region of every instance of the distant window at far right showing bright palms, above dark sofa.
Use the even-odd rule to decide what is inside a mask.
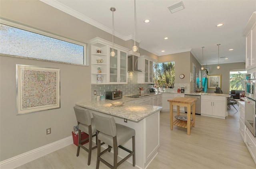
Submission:
[[[230,71],[230,82],[229,89],[230,90],[245,90],[245,84],[242,83],[244,81],[244,76],[247,71]]]

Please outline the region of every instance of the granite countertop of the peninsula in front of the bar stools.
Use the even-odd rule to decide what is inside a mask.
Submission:
[[[125,102],[128,99],[122,98],[117,101]],[[159,106],[150,106],[145,104],[136,104],[125,102],[123,106],[112,106],[111,102],[115,100],[102,100],[102,101],[90,101],[90,102],[79,102],[76,103],[76,106],[81,106],[88,108],[90,110],[95,110],[98,112],[110,114],[112,116],[117,116],[120,118],[126,118],[132,121],[140,121],[155,112],[162,110],[162,107]]]

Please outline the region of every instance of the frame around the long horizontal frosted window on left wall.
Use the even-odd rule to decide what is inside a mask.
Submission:
[[[60,35],[56,35],[54,33],[46,32],[46,31],[43,31],[43,30],[39,30],[39,29],[36,29],[36,28],[29,27],[29,26],[25,26],[25,25],[22,25],[20,23],[10,22],[10,21],[4,20],[2,18],[0,18],[0,24],[4,24],[4,25],[7,25],[7,26],[12,26],[14,28],[22,29],[22,30],[25,30],[25,31],[30,31],[30,32],[33,32],[33,33],[37,33],[37,34],[40,34],[40,35],[52,37],[52,38],[55,38],[55,39],[58,39],[58,40],[61,40],[61,41],[66,41],[66,42],[69,42],[69,43],[74,43],[76,45],[80,45],[80,46],[84,47],[84,63],[83,64],[69,63],[69,62],[64,62],[64,61],[52,61],[52,60],[48,60],[48,59],[37,59],[37,58],[33,58],[33,57],[22,56],[26,59],[50,61],[50,62],[56,62],[56,63],[69,64],[69,65],[88,66],[88,63],[89,63],[89,59],[87,57],[88,56],[88,43],[83,43],[83,42],[80,42],[80,41],[69,39],[69,38],[66,38],[66,37],[63,37],[63,36],[60,36]],[[0,53],[0,54],[1,55],[8,55],[8,54],[4,54],[4,53]],[[10,56],[13,56],[13,55],[10,55]],[[20,56],[17,56],[17,57],[20,57]]]

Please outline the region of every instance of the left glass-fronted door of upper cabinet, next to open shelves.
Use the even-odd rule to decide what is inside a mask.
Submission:
[[[112,48],[110,48],[110,51],[112,51]],[[117,49],[114,49],[114,52],[116,55],[114,57],[110,56],[110,68],[109,68],[109,80],[110,82],[118,82],[118,51]]]

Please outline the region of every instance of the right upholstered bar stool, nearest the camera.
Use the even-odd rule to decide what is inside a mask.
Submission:
[[[111,169],[116,169],[130,156],[132,156],[132,165],[135,166],[135,130],[127,126],[115,123],[115,120],[112,116],[96,113],[92,113],[92,116],[94,118],[97,131],[96,133],[98,150],[96,169],[99,168],[100,161],[102,161],[102,163],[104,163]],[[126,149],[121,145],[130,138],[132,138],[132,151]],[[100,151],[101,141],[109,145],[109,147],[102,152]],[[100,157],[102,154],[106,153],[106,151],[110,151],[111,147],[113,147],[114,149],[114,165],[111,165]],[[129,153],[126,157],[124,157],[124,159],[120,160],[119,162],[117,162],[118,147]]]

